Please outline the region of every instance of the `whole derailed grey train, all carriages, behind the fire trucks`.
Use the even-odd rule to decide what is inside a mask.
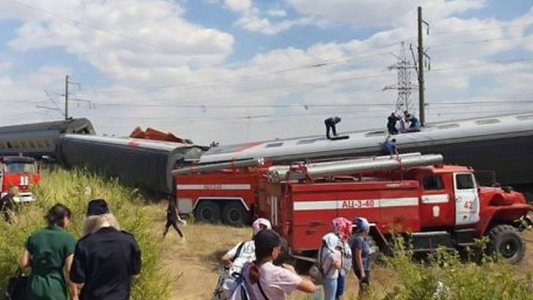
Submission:
[[[0,128],[0,154],[50,156],[68,167],[104,170],[131,185],[170,194],[172,169],[198,163],[264,158],[273,163],[373,156],[387,137],[383,130],[348,133],[348,139],[323,136],[251,142],[208,149],[196,144],[94,135],[88,119]],[[395,136],[401,152],[441,153],[448,164],[493,171],[498,182],[525,192],[533,183],[533,113],[480,117],[429,124],[419,133]]]

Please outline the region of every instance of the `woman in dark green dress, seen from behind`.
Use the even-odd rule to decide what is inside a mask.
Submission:
[[[65,231],[71,211],[56,204],[46,215],[48,226],[35,231],[26,242],[26,250],[19,261],[20,267],[31,267],[26,287],[30,300],[67,300],[67,278],[76,241]],[[70,297],[78,300],[76,285],[68,283]]]

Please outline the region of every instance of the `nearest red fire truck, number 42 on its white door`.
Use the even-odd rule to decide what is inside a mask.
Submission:
[[[393,233],[409,233],[414,251],[473,246],[475,239],[488,236],[489,249],[509,263],[523,258],[525,243],[519,233],[525,227],[517,221],[527,218],[532,207],[509,188],[478,186],[469,167],[316,175],[260,181],[258,188],[258,215],[271,220],[294,253],[318,249],[333,218],[366,217],[371,237],[383,250]]]

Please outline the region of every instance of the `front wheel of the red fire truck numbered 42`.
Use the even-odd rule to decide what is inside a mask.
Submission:
[[[525,253],[525,243],[513,226],[502,224],[489,231],[489,251],[500,255],[507,263],[516,264]]]

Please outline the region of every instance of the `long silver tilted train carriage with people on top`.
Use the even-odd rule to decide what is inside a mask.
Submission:
[[[386,130],[342,133],[346,140],[324,136],[214,147],[199,164],[265,158],[275,163],[343,156],[373,156]],[[421,132],[394,135],[400,153],[441,153],[446,163],[496,172],[498,182],[514,187],[533,183],[533,113],[429,124]],[[527,188],[531,190],[531,188]]]

